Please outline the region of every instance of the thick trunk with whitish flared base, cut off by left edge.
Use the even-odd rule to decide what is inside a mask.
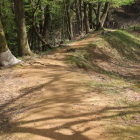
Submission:
[[[7,46],[0,17],[0,65],[1,66],[15,65],[19,62],[21,62],[21,60],[18,60],[16,57],[14,57]]]

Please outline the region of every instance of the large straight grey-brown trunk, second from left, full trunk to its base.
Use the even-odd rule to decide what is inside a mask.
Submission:
[[[16,16],[16,23],[17,23],[19,55],[20,56],[32,55],[33,53],[30,50],[27,33],[26,33],[24,1],[14,0],[14,7],[15,7],[15,16]]]

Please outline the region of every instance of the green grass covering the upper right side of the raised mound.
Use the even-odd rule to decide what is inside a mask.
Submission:
[[[120,57],[127,60],[139,60],[140,42],[134,35],[117,30],[104,35],[103,38],[110,44],[111,48],[116,49]]]

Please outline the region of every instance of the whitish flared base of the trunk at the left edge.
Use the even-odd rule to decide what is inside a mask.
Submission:
[[[20,63],[21,60],[17,59],[8,49],[6,52],[0,53],[0,65],[8,66]]]

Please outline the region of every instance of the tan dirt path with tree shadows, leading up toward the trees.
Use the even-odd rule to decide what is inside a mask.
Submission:
[[[93,36],[70,46],[92,41]],[[108,139],[107,127],[117,110],[114,100],[90,91],[85,83],[91,75],[74,71],[66,55],[60,48],[32,65],[1,70],[0,140]]]

